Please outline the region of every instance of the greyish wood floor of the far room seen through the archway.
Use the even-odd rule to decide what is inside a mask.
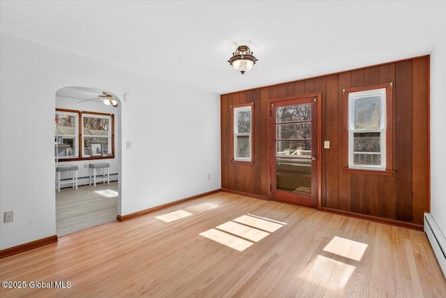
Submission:
[[[56,191],[56,234],[58,237],[96,225],[116,221],[118,181],[83,185]]]

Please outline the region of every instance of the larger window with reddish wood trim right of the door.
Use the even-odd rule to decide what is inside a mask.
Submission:
[[[344,168],[392,170],[392,83],[344,89]]]

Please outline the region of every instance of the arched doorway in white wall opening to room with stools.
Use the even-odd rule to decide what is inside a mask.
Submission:
[[[68,183],[56,189],[56,234],[62,237],[116,221],[121,205],[121,100],[109,90],[68,86],[56,91],[55,103],[55,168],[77,167],[77,188]],[[99,166],[100,183],[91,179],[92,166]],[[61,172],[61,179],[69,182],[73,174]]]

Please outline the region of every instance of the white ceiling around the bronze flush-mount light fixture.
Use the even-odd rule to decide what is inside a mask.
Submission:
[[[224,94],[429,54],[445,1],[3,1],[1,33]],[[245,75],[236,45],[259,59]]]

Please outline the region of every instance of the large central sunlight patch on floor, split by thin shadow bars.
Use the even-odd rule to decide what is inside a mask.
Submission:
[[[217,225],[217,227],[202,232],[200,235],[236,251],[245,251],[246,248],[267,237],[270,233],[279,230],[284,225],[286,223],[247,214],[233,221]]]

